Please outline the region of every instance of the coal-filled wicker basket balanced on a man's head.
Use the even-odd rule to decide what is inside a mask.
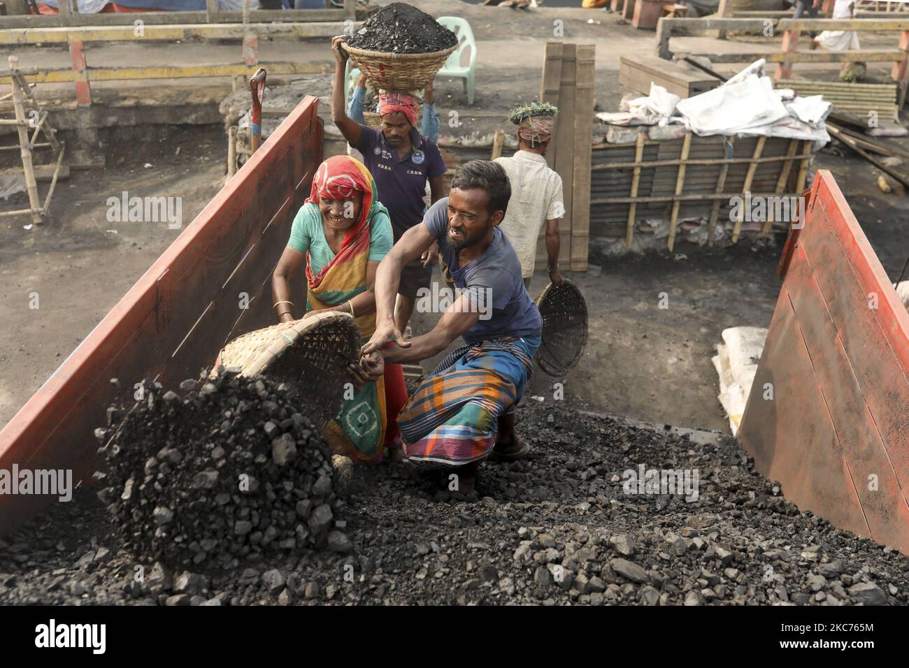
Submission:
[[[457,35],[413,5],[392,3],[345,38],[366,79],[385,90],[425,88],[457,48]]]

